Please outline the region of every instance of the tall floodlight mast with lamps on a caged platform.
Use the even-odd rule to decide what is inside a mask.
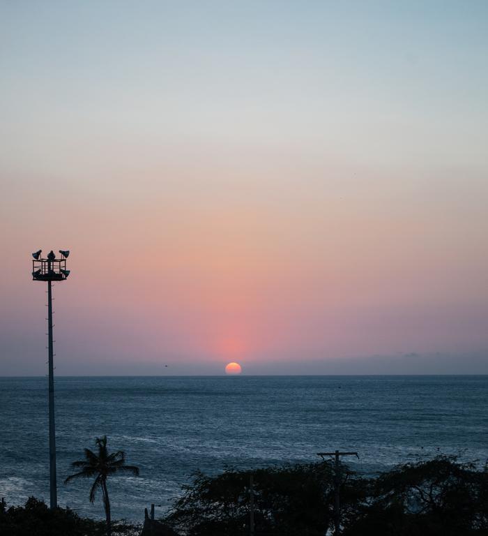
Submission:
[[[61,259],[56,260],[54,251],[47,254],[43,259],[40,254],[42,250],[32,253],[32,278],[33,281],[47,281],[47,357],[49,371],[49,506],[54,509],[58,505],[58,495],[56,486],[56,429],[54,426],[54,341],[52,338],[52,281],[64,281],[70,270],[66,269],[66,258],[69,251],[59,250]]]

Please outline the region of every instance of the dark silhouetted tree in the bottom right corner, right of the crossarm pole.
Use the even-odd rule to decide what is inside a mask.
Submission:
[[[369,482],[344,536],[488,535],[488,472],[454,457],[408,463]]]

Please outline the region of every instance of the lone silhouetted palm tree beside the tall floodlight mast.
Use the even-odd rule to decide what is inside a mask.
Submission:
[[[123,471],[139,476],[139,468],[126,466],[125,453],[121,450],[109,454],[107,451],[107,435],[104,435],[102,438],[96,438],[96,446],[98,447],[97,454],[90,449],[84,449],[85,459],[73,461],[71,466],[80,470],[79,472],[75,472],[74,475],[70,475],[64,483],[68,484],[71,480],[80,477],[95,477],[95,482],[93,482],[90,490],[90,502],[95,502],[96,491],[101,488],[103,507],[105,509],[105,516],[107,517],[107,536],[110,536],[110,500],[107,490],[107,477],[114,475],[116,472]]]

